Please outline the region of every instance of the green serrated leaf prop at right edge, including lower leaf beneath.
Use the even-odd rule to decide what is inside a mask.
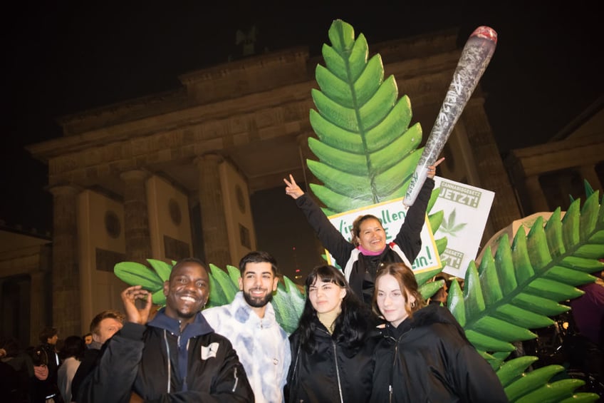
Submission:
[[[536,337],[531,329],[552,325],[549,318],[570,309],[559,302],[583,294],[576,288],[603,270],[604,205],[594,192],[580,208],[575,200],[561,218],[556,209],[547,223],[538,218],[528,235],[520,230],[510,245],[504,235],[493,256],[484,253],[479,267],[472,263],[462,292],[457,281],[447,305],[464,327],[468,340],[483,353],[504,384],[512,402],[594,401],[590,393],[574,394],[578,379],[548,383],[563,367],[550,365],[524,372],[533,357],[504,362],[512,342]]]

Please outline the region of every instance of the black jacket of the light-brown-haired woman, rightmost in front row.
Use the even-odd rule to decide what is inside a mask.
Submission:
[[[438,305],[418,310],[397,328],[387,325],[375,362],[370,402],[508,401],[489,363]]]

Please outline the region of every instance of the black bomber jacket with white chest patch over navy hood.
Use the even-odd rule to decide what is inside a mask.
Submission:
[[[125,323],[108,340],[86,377],[78,402],[254,402],[237,354],[198,313],[179,331],[178,320],[157,312],[147,326]]]

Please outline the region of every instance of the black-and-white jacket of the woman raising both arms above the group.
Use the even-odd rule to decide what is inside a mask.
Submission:
[[[315,230],[323,248],[326,248],[342,268],[350,287],[365,304],[371,305],[375,272],[382,262],[405,262],[411,265],[422,249],[420,233],[425,223],[426,208],[434,189],[434,180],[426,178],[417,200],[407,211],[405,221],[390,245],[386,245],[381,255],[365,256],[331,224],[323,210],[306,195],[296,199],[306,220]],[[402,254],[402,256],[401,256]]]

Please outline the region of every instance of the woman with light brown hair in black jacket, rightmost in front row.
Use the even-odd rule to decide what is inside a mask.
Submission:
[[[387,321],[370,402],[507,402],[489,363],[445,307],[425,305],[412,270],[377,270],[373,309]]]

